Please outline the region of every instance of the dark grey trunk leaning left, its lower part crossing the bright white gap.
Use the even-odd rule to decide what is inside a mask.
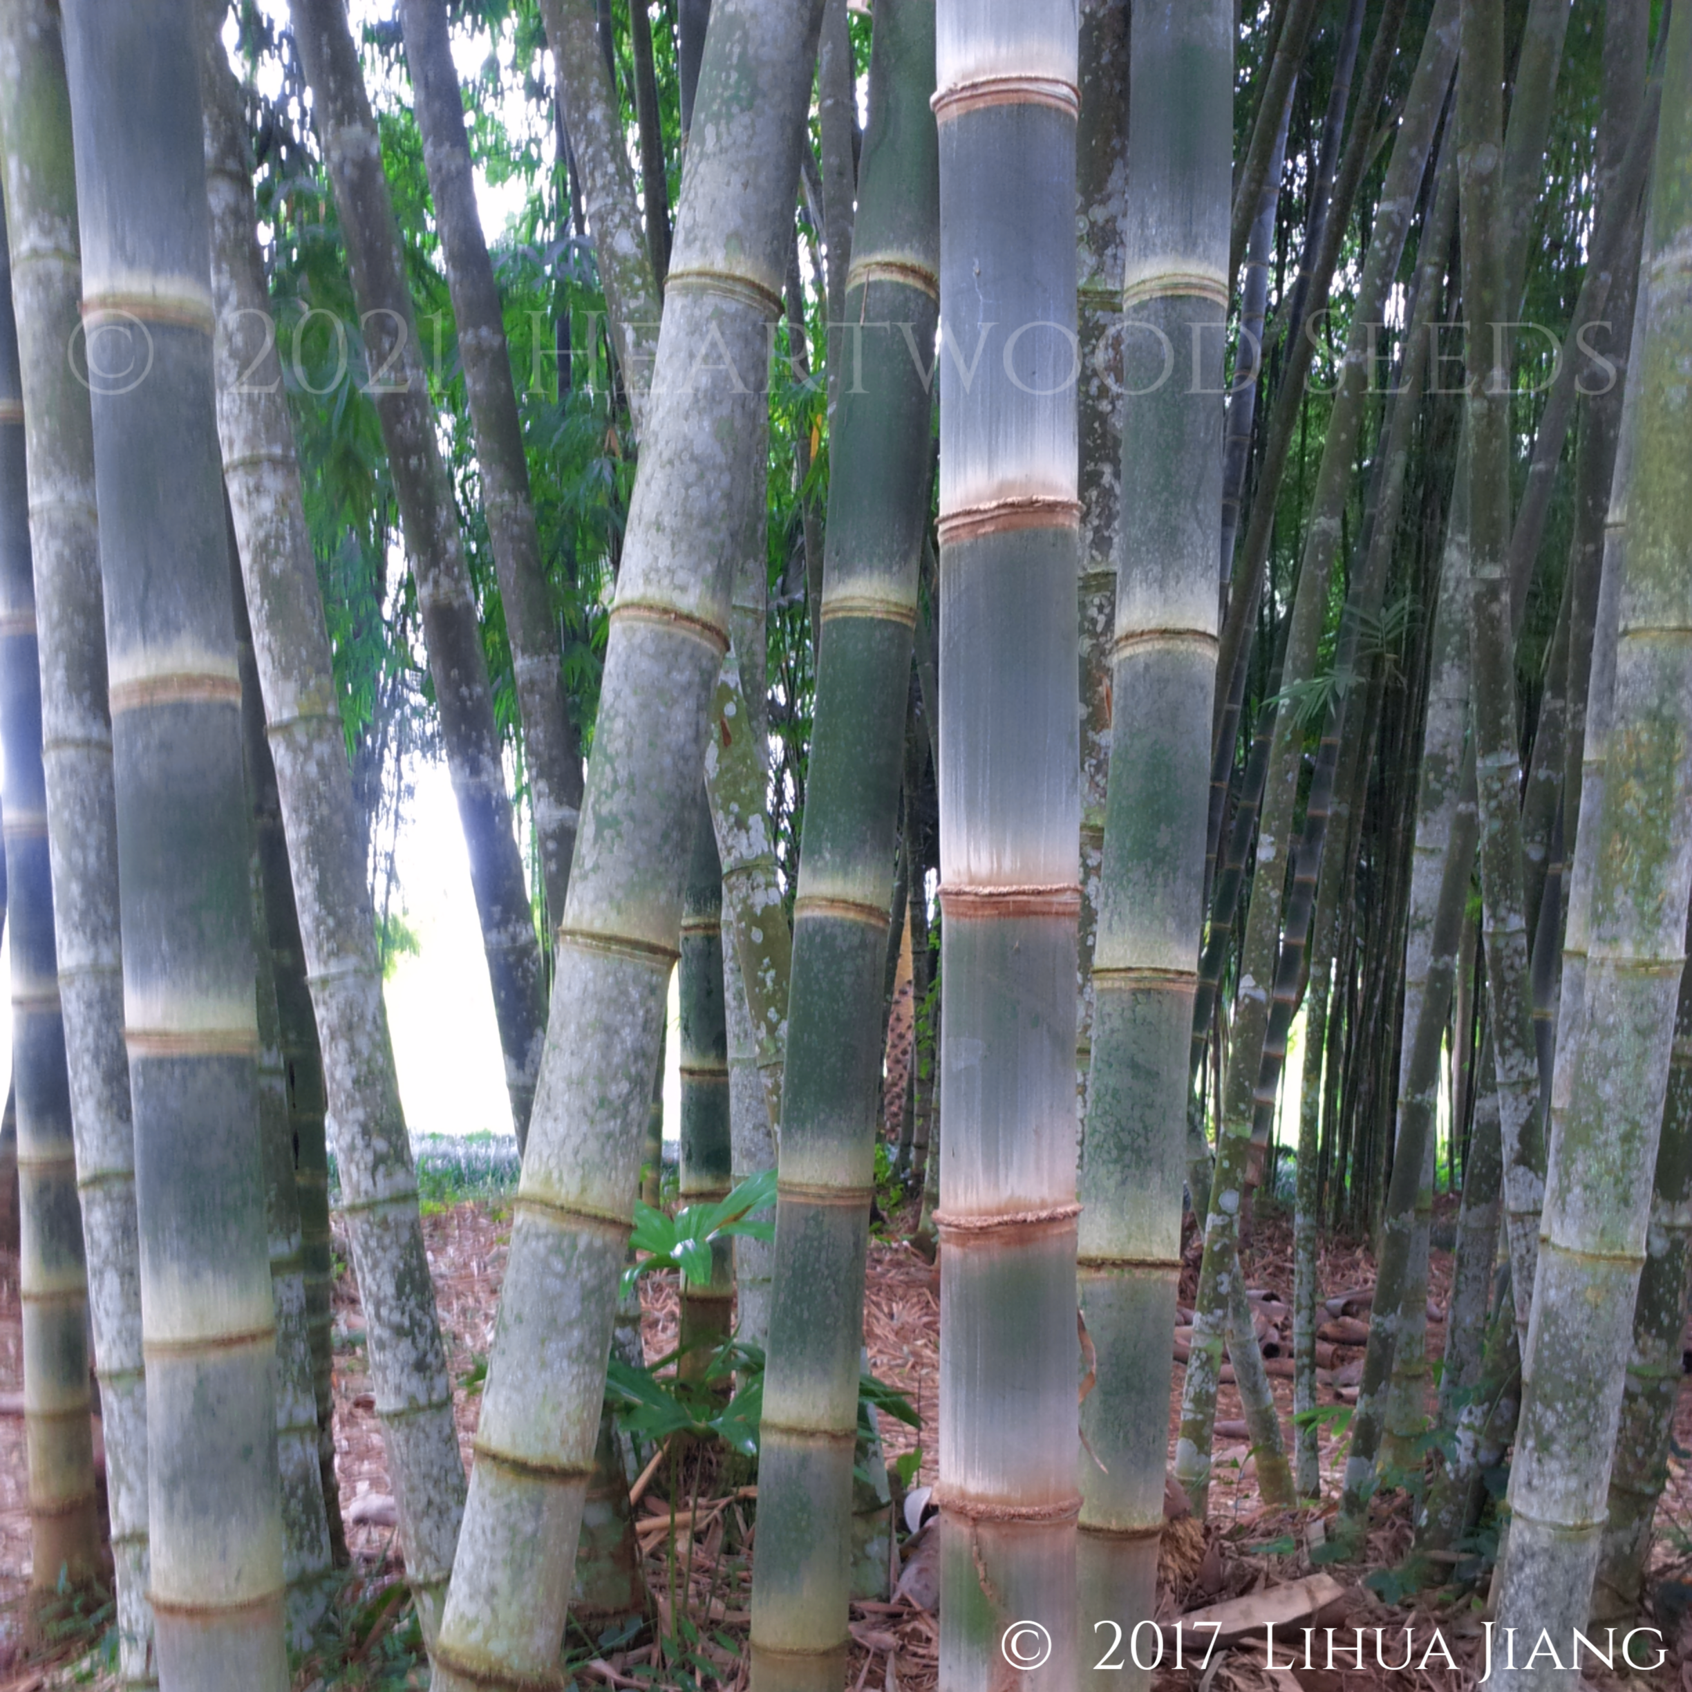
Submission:
[[[372,399],[423,611],[442,744],[470,856],[470,887],[521,1149],[547,1032],[547,988],[506,792],[475,596],[452,482],[440,457],[438,420],[406,283],[404,247],[347,14],[340,0],[293,0],[291,15],[299,61],[311,85],[313,118],[335,184],[371,360]]]

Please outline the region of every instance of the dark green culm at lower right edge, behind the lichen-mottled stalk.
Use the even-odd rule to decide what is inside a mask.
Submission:
[[[1656,1145],[1651,1223],[1633,1306],[1633,1345],[1621,1423],[1609,1467],[1604,1543],[1592,1585],[1592,1619],[1636,1616],[1645,1590],[1656,1501],[1668,1480],[1680,1399],[1687,1274],[1692,1269],[1692,970],[1680,971],[1668,1058],[1663,1130]]]

